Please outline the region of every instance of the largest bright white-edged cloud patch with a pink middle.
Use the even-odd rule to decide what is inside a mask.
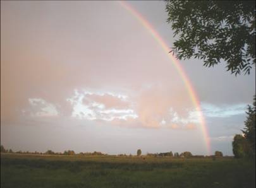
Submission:
[[[75,90],[67,100],[73,105],[72,117],[87,120],[136,119],[138,115],[130,109],[126,95]]]

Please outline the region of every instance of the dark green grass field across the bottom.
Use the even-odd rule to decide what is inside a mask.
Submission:
[[[255,187],[233,158],[1,155],[1,187]]]

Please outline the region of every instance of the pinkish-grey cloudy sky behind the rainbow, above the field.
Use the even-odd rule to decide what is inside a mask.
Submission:
[[[164,1],[126,3],[171,48]],[[1,144],[14,151],[233,155],[255,68],[235,76],[225,62],[178,64],[200,112],[168,52],[122,3],[1,1]]]

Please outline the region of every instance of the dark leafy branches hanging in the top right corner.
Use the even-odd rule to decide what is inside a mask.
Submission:
[[[226,61],[227,71],[250,74],[255,66],[255,1],[176,1],[166,4],[174,31],[171,52],[195,57],[211,67]]]

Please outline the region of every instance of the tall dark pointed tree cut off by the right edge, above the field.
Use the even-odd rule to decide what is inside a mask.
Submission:
[[[253,106],[248,105],[247,120],[245,120],[245,129],[242,130],[245,139],[247,139],[250,147],[252,148],[252,154],[255,155],[255,117],[256,117],[256,97],[253,97]]]

